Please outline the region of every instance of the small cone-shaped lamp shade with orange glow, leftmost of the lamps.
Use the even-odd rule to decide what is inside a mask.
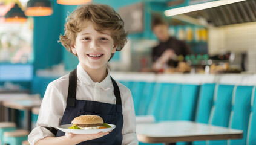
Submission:
[[[5,14],[5,22],[26,22],[27,17],[24,11],[21,10],[18,4],[13,7]]]

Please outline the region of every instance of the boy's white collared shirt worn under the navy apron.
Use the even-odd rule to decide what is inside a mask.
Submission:
[[[100,83],[95,83],[84,71],[82,66],[77,65],[77,100],[100,101],[103,103],[116,104],[114,87],[111,82],[110,71],[107,69],[107,77]],[[55,127],[61,124],[62,116],[67,105],[69,74],[49,83],[42,100],[36,127],[28,136],[31,145],[36,141],[54,135],[44,127]],[[123,141],[122,144],[138,144],[136,135],[136,121],[133,106],[133,98],[128,88],[117,82],[122,98],[123,111]]]

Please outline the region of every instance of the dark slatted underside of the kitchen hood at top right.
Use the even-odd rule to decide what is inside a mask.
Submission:
[[[240,24],[256,21],[256,0],[247,0],[220,7],[185,13],[186,16],[198,19],[205,18],[214,26]]]

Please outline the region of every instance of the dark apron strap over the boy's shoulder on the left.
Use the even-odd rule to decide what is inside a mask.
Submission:
[[[77,82],[77,75],[76,75],[76,69],[74,69],[74,71],[70,72],[70,76],[69,76],[68,99],[67,99],[68,107],[76,106],[76,82]]]

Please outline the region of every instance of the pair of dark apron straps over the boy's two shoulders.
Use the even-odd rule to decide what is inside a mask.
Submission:
[[[114,86],[114,95],[116,97],[116,104],[122,106],[119,87],[117,86],[116,81],[112,77],[111,77],[111,80]],[[76,85],[77,85],[77,74],[76,74],[76,69],[74,69],[74,71],[70,72],[70,76],[69,76],[68,98],[67,98],[68,107],[76,106]]]

